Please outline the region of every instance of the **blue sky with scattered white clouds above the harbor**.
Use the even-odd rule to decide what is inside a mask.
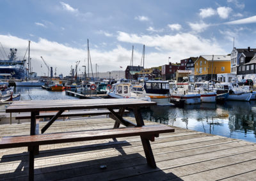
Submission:
[[[47,75],[40,58],[57,75],[69,75],[79,62],[100,72],[145,68],[200,55],[227,55],[233,48],[256,48],[254,0],[19,1],[0,0],[0,59],[17,48],[23,59],[31,41],[33,71]],[[5,54],[4,54],[5,52]],[[28,53],[25,59],[28,59]],[[122,67],[122,68],[121,68]]]

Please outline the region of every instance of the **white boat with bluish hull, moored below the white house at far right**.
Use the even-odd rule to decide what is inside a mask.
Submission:
[[[252,98],[251,92],[246,92],[243,89],[239,89],[238,85],[236,87],[236,84],[230,83],[230,82],[221,82],[216,83],[216,87],[218,89],[216,90],[217,94],[221,94],[224,92],[229,92],[228,100],[232,101],[250,101]]]

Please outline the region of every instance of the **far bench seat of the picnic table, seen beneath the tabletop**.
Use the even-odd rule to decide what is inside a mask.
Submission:
[[[118,110],[114,110],[118,112]],[[129,113],[128,110],[125,110],[124,113]],[[75,117],[75,116],[85,116],[85,115],[109,115],[111,112],[109,110],[92,110],[92,111],[72,111],[72,112],[63,112],[60,117]],[[40,115],[36,115],[36,119],[40,118],[52,118],[56,115],[56,112],[41,112]],[[15,119],[31,119],[31,113],[19,113]]]

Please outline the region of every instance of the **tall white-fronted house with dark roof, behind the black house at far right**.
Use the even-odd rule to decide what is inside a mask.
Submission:
[[[237,75],[237,72],[239,71],[237,67],[239,66],[239,57],[241,56],[242,53],[246,52],[256,52],[256,48],[236,48],[234,47],[231,54],[230,54],[230,73],[234,73]]]

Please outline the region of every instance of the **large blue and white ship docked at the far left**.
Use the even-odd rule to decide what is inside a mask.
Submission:
[[[26,77],[26,60],[18,61],[16,54],[17,49],[10,48],[10,55],[8,55],[8,60],[0,59],[0,79],[24,79]]]

